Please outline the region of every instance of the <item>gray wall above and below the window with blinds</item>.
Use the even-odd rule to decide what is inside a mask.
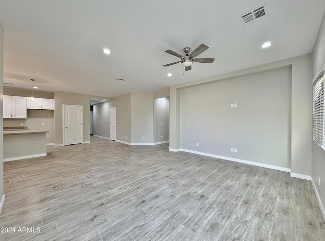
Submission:
[[[325,15],[320,25],[320,29],[313,49],[313,77],[325,65]],[[318,196],[319,206],[325,218],[325,152],[316,143],[312,142],[312,181]],[[320,178],[320,185],[318,183]]]

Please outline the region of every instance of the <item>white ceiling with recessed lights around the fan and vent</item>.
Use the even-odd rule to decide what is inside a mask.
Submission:
[[[244,27],[238,16],[264,3],[269,17]],[[159,91],[311,53],[324,11],[324,0],[0,0],[4,82],[103,97]],[[163,67],[179,60],[165,50],[202,43],[198,57],[212,64]]]

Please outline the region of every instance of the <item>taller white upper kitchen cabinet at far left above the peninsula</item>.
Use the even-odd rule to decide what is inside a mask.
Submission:
[[[4,95],[4,111],[5,119],[26,119],[26,97],[6,96]]]

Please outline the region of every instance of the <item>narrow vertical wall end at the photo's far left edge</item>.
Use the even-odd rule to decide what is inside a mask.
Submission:
[[[0,200],[3,198],[4,195],[3,83],[4,83],[4,30],[0,22],[0,113],[1,113],[0,115]]]

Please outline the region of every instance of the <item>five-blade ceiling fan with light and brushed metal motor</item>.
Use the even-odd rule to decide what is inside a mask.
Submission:
[[[167,66],[170,66],[170,65],[173,65],[173,64],[182,63],[185,66],[185,71],[187,71],[187,70],[192,69],[191,65],[192,65],[193,62],[197,62],[197,63],[213,63],[214,59],[212,59],[212,58],[195,58],[199,54],[201,54],[202,52],[206,51],[208,48],[209,48],[208,46],[206,46],[204,44],[201,44],[198,48],[194,49],[192,53],[188,54],[191,49],[189,47],[185,47],[184,48],[184,52],[186,53],[185,56],[177,54],[176,52],[174,52],[172,50],[166,50],[165,51],[166,53],[174,55],[176,57],[179,57],[181,60],[170,63],[170,64],[165,64],[163,66],[167,67]]]

